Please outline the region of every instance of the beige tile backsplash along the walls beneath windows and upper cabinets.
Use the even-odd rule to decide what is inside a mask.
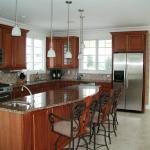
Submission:
[[[63,76],[62,79],[77,79],[78,75],[78,69],[63,69]],[[0,82],[3,83],[17,83],[18,79],[19,79],[19,75],[20,75],[21,71],[18,72],[3,72],[0,71]],[[27,78],[27,77],[26,77]],[[82,77],[83,80],[106,80],[106,81],[111,81],[111,75],[110,74],[83,74],[82,73]],[[37,81],[37,80],[48,80],[50,79],[49,76],[49,71],[47,71],[46,73],[34,73],[34,74],[30,74],[28,77],[29,81]],[[27,80],[27,79],[26,79]]]

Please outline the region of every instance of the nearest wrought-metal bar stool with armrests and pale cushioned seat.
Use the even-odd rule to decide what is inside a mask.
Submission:
[[[69,149],[74,148],[74,139],[80,132],[80,116],[85,109],[85,103],[77,103],[73,107],[70,118],[63,118],[53,113],[49,114],[49,121],[52,125],[52,132],[58,135],[55,142],[55,150],[58,150],[58,143],[62,137],[69,139]]]

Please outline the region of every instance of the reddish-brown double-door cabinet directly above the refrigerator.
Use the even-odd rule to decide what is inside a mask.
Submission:
[[[112,32],[113,52],[143,52],[147,31]]]

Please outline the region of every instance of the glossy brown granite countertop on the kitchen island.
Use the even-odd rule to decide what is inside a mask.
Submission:
[[[76,101],[83,100],[87,96],[92,96],[99,91],[99,86],[81,84],[68,86],[60,90],[49,90],[46,92],[25,96],[23,98],[7,101],[6,103],[16,101],[23,104],[20,106],[9,106],[6,103],[0,103],[0,110],[27,113],[38,109],[51,108]],[[28,107],[27,107],[28,106]]]

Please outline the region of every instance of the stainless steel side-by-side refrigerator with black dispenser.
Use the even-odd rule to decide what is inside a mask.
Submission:
[[[113,54],[113,85],[124,85],[118,109],[142,111],[143,53]]]

